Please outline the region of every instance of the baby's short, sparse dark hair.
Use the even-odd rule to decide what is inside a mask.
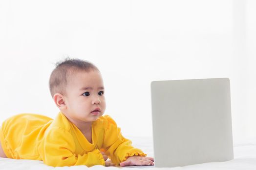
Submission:
[[[49,80],[49,88],[53,98],[55,93],[66,95],[66,86],[69,77],[77,71],[86,71],[99,69],[92,63],[81,59],[70,59],[66,57],[64,61],[55,64],[56,68],[52,71]]]

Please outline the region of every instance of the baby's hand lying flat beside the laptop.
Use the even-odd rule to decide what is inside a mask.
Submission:
[[[154,165],[154,158],[147,156],[131,156],[126,161],[121,162],[120,166],[133,166],[133,165]]]

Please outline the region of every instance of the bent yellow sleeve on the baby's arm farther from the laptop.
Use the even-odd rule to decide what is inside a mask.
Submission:
[[[105,160],[98,149],[83,155],[75,154],[73,136],[60,127],[53,127],[44,137],[39,152],[43,163],[53,167],[73,165],[105,166]]]

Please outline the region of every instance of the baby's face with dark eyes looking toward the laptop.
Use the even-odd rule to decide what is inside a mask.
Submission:
[[[66,87],[66,114],[77,121],[95,121],[106,109],[104,85],[98,70],[71,75]],[[99,109],[97,112],[92,112]]]

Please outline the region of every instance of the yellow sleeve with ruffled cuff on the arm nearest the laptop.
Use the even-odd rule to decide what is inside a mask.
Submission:
[[[121,129],[117,127],[116,122],[108,115],[105,116],[108,120],[107,130],[104,136],[103,150],[114,164],[119,165],[129,156],[140,155],[146,156],[140,149],[134,148],[132,142],[122,136]]]

